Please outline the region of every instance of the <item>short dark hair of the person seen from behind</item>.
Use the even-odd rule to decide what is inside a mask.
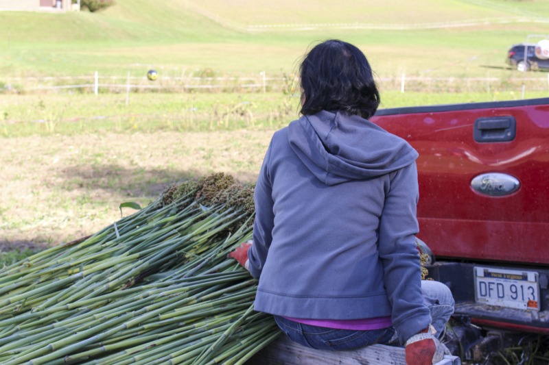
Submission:
[[[364,53],[341,40],[316,45],[299,66],[301,114],[343,111],[370,118],[379,105],[379,92]]]

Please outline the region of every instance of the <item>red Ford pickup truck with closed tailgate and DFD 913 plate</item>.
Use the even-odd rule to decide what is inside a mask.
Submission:
[[[549,334],[549,98],[379,110],[419,152],[419,235],[456,316]]]

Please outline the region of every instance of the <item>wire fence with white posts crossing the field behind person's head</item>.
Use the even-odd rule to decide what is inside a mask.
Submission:
[[[513,72],[515,73],[515,72]],[[395,75],[377,77],[379,87],[400,92],[494,92],[549,90],[549,73],[530,73],[526,77],[516,72],[510,77],[424,77]],[[95,95],[104,92],[270,92],[294,93],[297,80],[292,75],[269,77],[266,73],[243,77],[170,77],[159,76],[155,81],[140,76],[82,75],[73,77],[4,77],[0,93],[73,92]]]

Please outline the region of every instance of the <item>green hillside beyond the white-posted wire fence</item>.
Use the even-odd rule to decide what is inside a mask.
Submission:
[[[549,33],[541,15],[549,14],[549,1],[541,0],[273,3],[117,0],[93,14],[0,12],[0,82],[94,71],[124,77],[134,64],[164,73],[281,75],[326,38],[361,47],[381,76],[508,75],[509,46]],[[338,25],[349,23],[357,26]],[[292,26],[258,27],[277,24]]]

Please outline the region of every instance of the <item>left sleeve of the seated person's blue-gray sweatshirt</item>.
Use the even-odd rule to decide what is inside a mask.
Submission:
[[[272,141],[267,149],[254,190],[255,220],[253,224],[253,244],[248,250],[248,269],[256,279],[259,279],[261,270],[263,270],[263,266],[267,260],[267,252],[272,241],[272,228],[274,227],[274,201],[272,200],[272,186],[269,174],[271,149]]]

